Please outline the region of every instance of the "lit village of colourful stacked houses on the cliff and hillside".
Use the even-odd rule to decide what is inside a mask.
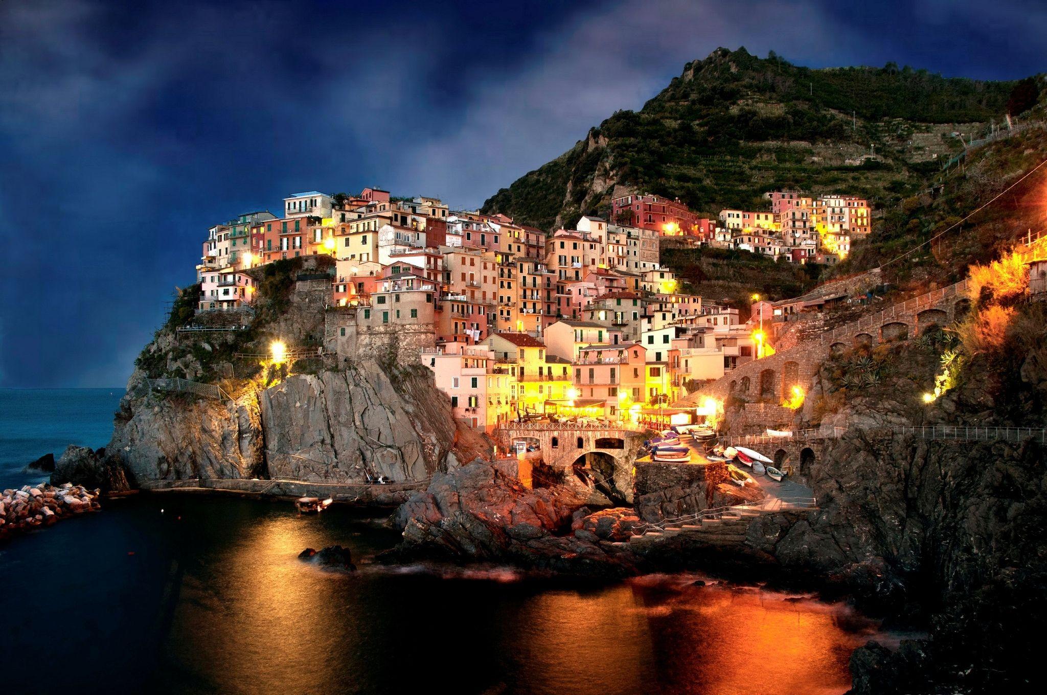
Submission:
[[[833,264],[869,232],[864,199],[794,190],[765,198],[765,210],[725,209],[709,220],[678,200],[623,195],[610,221],[582,217],[575,229],[547,233],[379,188],[299,193],[284,200],[282,216],[246,212],[208,230],[196,310],[250,312],[252,269],[327,256],[327,304],[347,316],[336,339],[396,332],[413,340],[454,417],[473,428],[489,433],[544,416],[683,424],[695,409],[671,404],[773,354],[776,329],[796,314],[864,298],[771,302],[754,294],[741,322],[736,307],[682,291],[660,264],[665,244]]]

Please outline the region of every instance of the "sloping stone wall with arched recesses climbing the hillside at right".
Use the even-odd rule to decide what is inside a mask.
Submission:
[[[696,405],[701,397],[727,398],[731,394],[780,402],[788,397],[793,386],[810,383],[818,365],[832,352],[861,344],[908,340],[932,327],[948,326],[962,317],[970,308],[966,289],[967,281],[963,279],[838,326],[771,357],[745,362],[688,396],[684,403]]]

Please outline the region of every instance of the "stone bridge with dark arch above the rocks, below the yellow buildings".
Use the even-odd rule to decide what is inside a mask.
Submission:
[[[630,425],[525,422],[494,430],[494,441],[503,449],[515,451],[519,443],[537,447],[522,452],[521,459],[540,459],[588,492],[594,483],[612,485],[625,501],[631,501],[632,464],[646,439],[645,428]]]

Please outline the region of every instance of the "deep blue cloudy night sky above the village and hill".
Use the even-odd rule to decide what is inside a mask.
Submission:
[[[293,192],[475,208],[717,46],[1009,80],[1047,3],[0,0],[0,386],[122,386],[207,227]]]

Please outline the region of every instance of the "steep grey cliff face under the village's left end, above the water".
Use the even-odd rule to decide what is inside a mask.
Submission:
[[[132,389],[108,450],[139,480],[346,483],[424,479],[454,450],[488,450],[483,435],[454,422],[431,376],[406,369],[397,378],[394,385],[362,363],[292,376],[236,403]]]

